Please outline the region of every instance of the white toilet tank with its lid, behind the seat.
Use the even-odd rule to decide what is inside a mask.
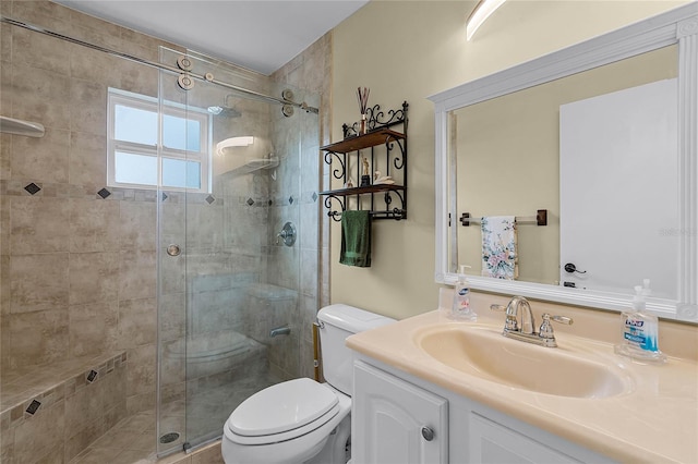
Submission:
[[[354,333],[395,322],[395,319],[336,304],[322,308],[317,313],[317,320],[321,322],[323,376],[327,383],[351,396],[353,352],[345,345],[345,340]]]

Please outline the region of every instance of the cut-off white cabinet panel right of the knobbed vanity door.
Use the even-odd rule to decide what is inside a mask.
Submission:
[[[479,414],[470,415],[470,463],[580,463],[554,448]]]

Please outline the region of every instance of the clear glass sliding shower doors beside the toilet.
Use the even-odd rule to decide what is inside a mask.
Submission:
[[[316,262],[303,269],[301,244],[316,241],[317,222],[301,210],[317,195],[301,172],[317,173],[320,135],[316,95],[191,52],[163,48],[161,62],[182,68],[160,72],[159,105],[184,110],[180,181],[190,183],[163,186],[157,203],[158,453],[167,454],[220,437],[244,399],[304,374],[301,285]],[[207,167],[200,146],[213,152]]]

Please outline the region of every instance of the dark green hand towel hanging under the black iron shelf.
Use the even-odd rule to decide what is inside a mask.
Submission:
[[[371,267],[371,213],[341,212],[341,253],[339,262],[360,268]]]

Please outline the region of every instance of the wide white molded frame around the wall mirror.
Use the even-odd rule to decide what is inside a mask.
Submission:
[[[454,246],[458,229],[455,216],[454,225],[449,224],[448,210],[448,198],[455,195],[449,191],[455,190],[448,158],[449,111],[672,45],[678,51],[678,295],[677,300],[650,298],[647,307],[664,318],[698,321],[698,2],[429,97],[435,117],[437,283],[453,285],[457,280],[448,269],[449,243]],[[601,309],[625,309],[633,300],[629,291],[609,293],[478,276],[468,280],[473,290]]]

